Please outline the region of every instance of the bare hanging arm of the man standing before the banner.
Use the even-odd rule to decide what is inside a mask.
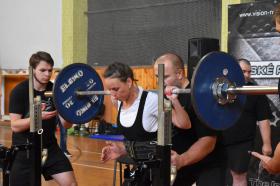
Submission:
[[[264,155],[270,155],[272,153],[271,147],[271,129],[269,120],[259,121],[259,128],[262,136],[262,153]]]

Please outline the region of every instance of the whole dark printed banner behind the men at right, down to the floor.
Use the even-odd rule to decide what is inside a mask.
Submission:
[[[228,52],[251,62],[252,78],[259,85],[277,86],[280,77],[280,34],[273,23],[273,9],[279,1],[262,1],[228,7]],[[274,119],[271,120],[272,146],[280,141],[280,104],[278,95],[268,95]],[[262,140],[257,130],[257,151]],[[259,169],[259,161],[251,158],[249,185],[280,185],[280,175]]]

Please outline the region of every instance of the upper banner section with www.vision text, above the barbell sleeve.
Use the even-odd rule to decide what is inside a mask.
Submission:
[[[280,34],[272,20],[277,1],[229,6],[228,49],[252,63],[253,78],[280,76]]]

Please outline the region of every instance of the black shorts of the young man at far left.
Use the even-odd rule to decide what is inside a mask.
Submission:
[[[30,172],[33,170],[31,162],[27,159],[26,152],[18,152],[15,158],[10,175],[11,186],[29,186]],[[42,174],[45,180],[51,180],[52,175],[73,171],[69,159],[64,155],[57,144],[48,148],[48,158],[42,167]]]

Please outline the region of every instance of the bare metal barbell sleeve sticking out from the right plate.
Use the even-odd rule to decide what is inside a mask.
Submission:
[[[242,86],[242,87],[229,87],[226,90],[231,94],[248,94],[248,95],[264,95],[264,94],[279,94],[278,87],[276,86]]]

